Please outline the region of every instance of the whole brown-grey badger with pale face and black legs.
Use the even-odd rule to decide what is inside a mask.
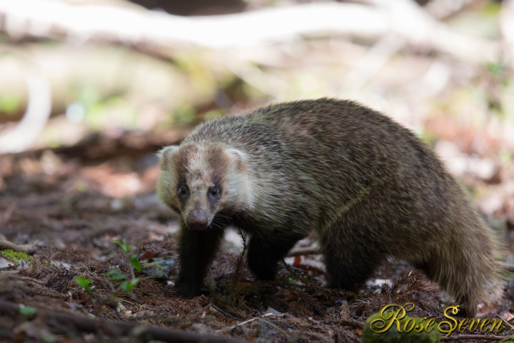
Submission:
[[[311,230],[330,287],[353,289],[397,257],[473,315],[498,279],[493,232],[433,151],[354,102],[296,101],[215,119],[159,156],[158,197],[182,219],[183,296],[200,292],[228,225],[250,234],[248,266],[260,279],[273,279]]]

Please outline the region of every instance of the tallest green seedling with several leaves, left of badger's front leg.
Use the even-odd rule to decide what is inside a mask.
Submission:
[[[132,289],[136,287],[140,281],[140,279],[136,277],[136,271],[141,272],[141,262],[139,262],[138,255],[135,253],[136,247],[127,244],[125,239],[116,239],[113,242],[119,247],[121,253],[128,262],[127,267],[129,267],[130,277],[119,269],[111,269],[107,272],[107,275],[111,281],[119,284],[124,292],[133,296]]]

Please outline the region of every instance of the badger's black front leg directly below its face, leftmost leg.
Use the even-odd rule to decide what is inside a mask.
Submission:
[[[181,269],[175,288],[183,297],[200,294],[207,267],[218,251],[222,237],[223,229],[191,230],[182,224],[178,248]]]

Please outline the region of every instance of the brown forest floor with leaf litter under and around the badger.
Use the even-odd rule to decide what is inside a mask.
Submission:
[[[162,142],[127,143],[137,139],[0,157],[0,233],[35,250],[0,260],[1,342],[359,342],[363,322],[385,304],[413,302],[413,314],[441,317],[438,288],[401,262],[385,262],[354,294],[323,287],[316,254],[288,258],[276,282],[256,282],[231,243],[206,295],[178,297],[177,222],[153,190]],[[480,315],[509,320],[513,301],[508,279],[500,304]]]

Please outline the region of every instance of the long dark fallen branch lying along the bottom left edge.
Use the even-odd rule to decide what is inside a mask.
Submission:
[[[20,315],[19,305],[0,300],[0,313],[9,316]],[[86,317],[73,316],[70,314],[60,314],[50,312],[45,309],[36,309],[36,316],[45,319],[46,322],[57,322],[62,326],[71,326],[81,332],[94,332],[110,334],[116,338],[120,336],[139,337],[144,341],[151,340],[163,342],[202,342],[202,343],[237,343],[246,342],[231,337],[216,337],[205,334],[195,334],[183,332],[176,329],[163,329],[161,327],[151,327],[149,325],[138,324],[136,322],[116,322],[108,319],[91,319]]]

